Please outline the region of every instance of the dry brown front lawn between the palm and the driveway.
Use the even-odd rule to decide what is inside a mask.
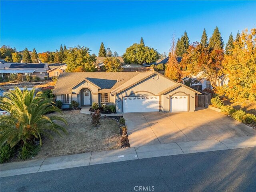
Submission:
[[[68,135],[60,137],[54,133],[53,140],[44,138],[42,148],[35,158],[120,148],[121,136],[116,120],[101,119],[100,125],[94,127],[91,116],[81,114],[79,110],[64,111],[62,117],[68,122]]]

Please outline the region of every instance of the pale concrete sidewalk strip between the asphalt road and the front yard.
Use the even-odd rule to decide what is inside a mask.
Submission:
[[[156,144],[1,164],[1,177],[160,156],[255,147],[255,136]]]

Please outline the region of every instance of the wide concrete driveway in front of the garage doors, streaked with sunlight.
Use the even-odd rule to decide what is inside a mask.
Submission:
[[[124,113],[130,146],[253,136],[256,130],[208,108],[195,112]]]

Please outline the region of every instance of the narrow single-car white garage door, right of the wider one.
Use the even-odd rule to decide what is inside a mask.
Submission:
[[[188,111],[188,96],[173,96],[170,99],[170,112]]]

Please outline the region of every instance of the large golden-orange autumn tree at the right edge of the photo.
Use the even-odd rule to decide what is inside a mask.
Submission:
[[[228,86],[218,87],[217,92],[233,101],[256,101],[256,28],[244,30],[233,45],[223,60]]]

